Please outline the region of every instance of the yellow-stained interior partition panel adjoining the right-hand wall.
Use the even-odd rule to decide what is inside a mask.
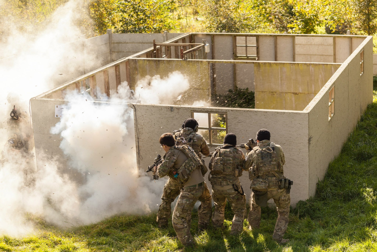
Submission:
[[[318,63],[255,63],[255,108],[302,111],[339,66]]]

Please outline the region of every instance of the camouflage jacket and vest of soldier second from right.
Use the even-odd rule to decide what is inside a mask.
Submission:
[[[238,177],[242,176],[244,163],[245,155],[241,149],[230,144],[217,148],[209,164],[211,184],[224,186],[237,183]]]

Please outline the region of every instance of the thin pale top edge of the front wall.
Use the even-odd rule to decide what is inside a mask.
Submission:
[[[69,99],[54,99],[54,98],[40,98],[33,97],[30,100],[46,100],[46,101],[72,101]],[[144,104],[144,103],[129,103],[122,101],[103,101],[103,100],[90,100],[94,103],[108,103],[108,104],[129,104],[131,106],[152,106],[152,107],[165,107],[165,108],[190,108],[195,111],[215,111],[215,112],[227,112],[227,111],[260,111],[260,112],[284,112],[284,113],[294,113],[294,114],[308,114],[304,111],[296,110],[279,110],[279,109],[243,109],[243,108],[226,108],[226,107],[197,107],[197,106],[188,106],[188,105],[169,105],[169,104]]]

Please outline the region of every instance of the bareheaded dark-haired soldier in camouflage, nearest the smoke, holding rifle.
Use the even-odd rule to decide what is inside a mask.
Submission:
[[[198,208],[198,226],[207,227],[212,213],[211,195],[203,178],[204,166],[191,147],[176,146],[172,134],[163,134],[159,142],[166,154],[163,163],[156,168],[156,172],[159,177],[169,175],[177,178],[181,184],[172,222],[178,239],[185,246],[190,246],[194,242],[190,226],[192,209],[196,201],[202,202]]]

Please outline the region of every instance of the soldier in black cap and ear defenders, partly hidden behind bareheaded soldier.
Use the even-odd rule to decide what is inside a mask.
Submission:
[[[205,142],[204,138],[196,134],[198,131],[198,122],[193,119],[189,118],[184,121],[182,124],[182,129],[175,132],[175,140],[176,145],[189,145],[198,155],[199,158],[201,158],[201,154],[208,156],[210,154],[210,150],[208,148],[207,143]],[[204,162],[203,162],[204,164]],[[168,174],[169,175],[169,174]],[[179,195],[182,188],[182,184],[179,183],[177,178],[174,178],[173,176],[169,175],[169,180],[166,182],[164,186],[164,191],[162,193],[162,203],[158,209],[157,213],[157,223],[159,227],[166,227],[168,220],[170,218],[170,215],[172,214],[172,202],[175,200],[175,198]],[[201,198],[208,197],[208,195],[202,195]],[[211,198],[211,196],[209,196]],[[208,198],[205,198],[203,202],[208,202]],[[210,202],[211,204],[212,202]],[[205,206],[207,208],[208,206]],[[208,217],[210,218],[210,216]],[[207,219],[207,218],[205,218]],[[207,228],[208,224],[202,225],[199,224],[199,229],[205,229]]]

